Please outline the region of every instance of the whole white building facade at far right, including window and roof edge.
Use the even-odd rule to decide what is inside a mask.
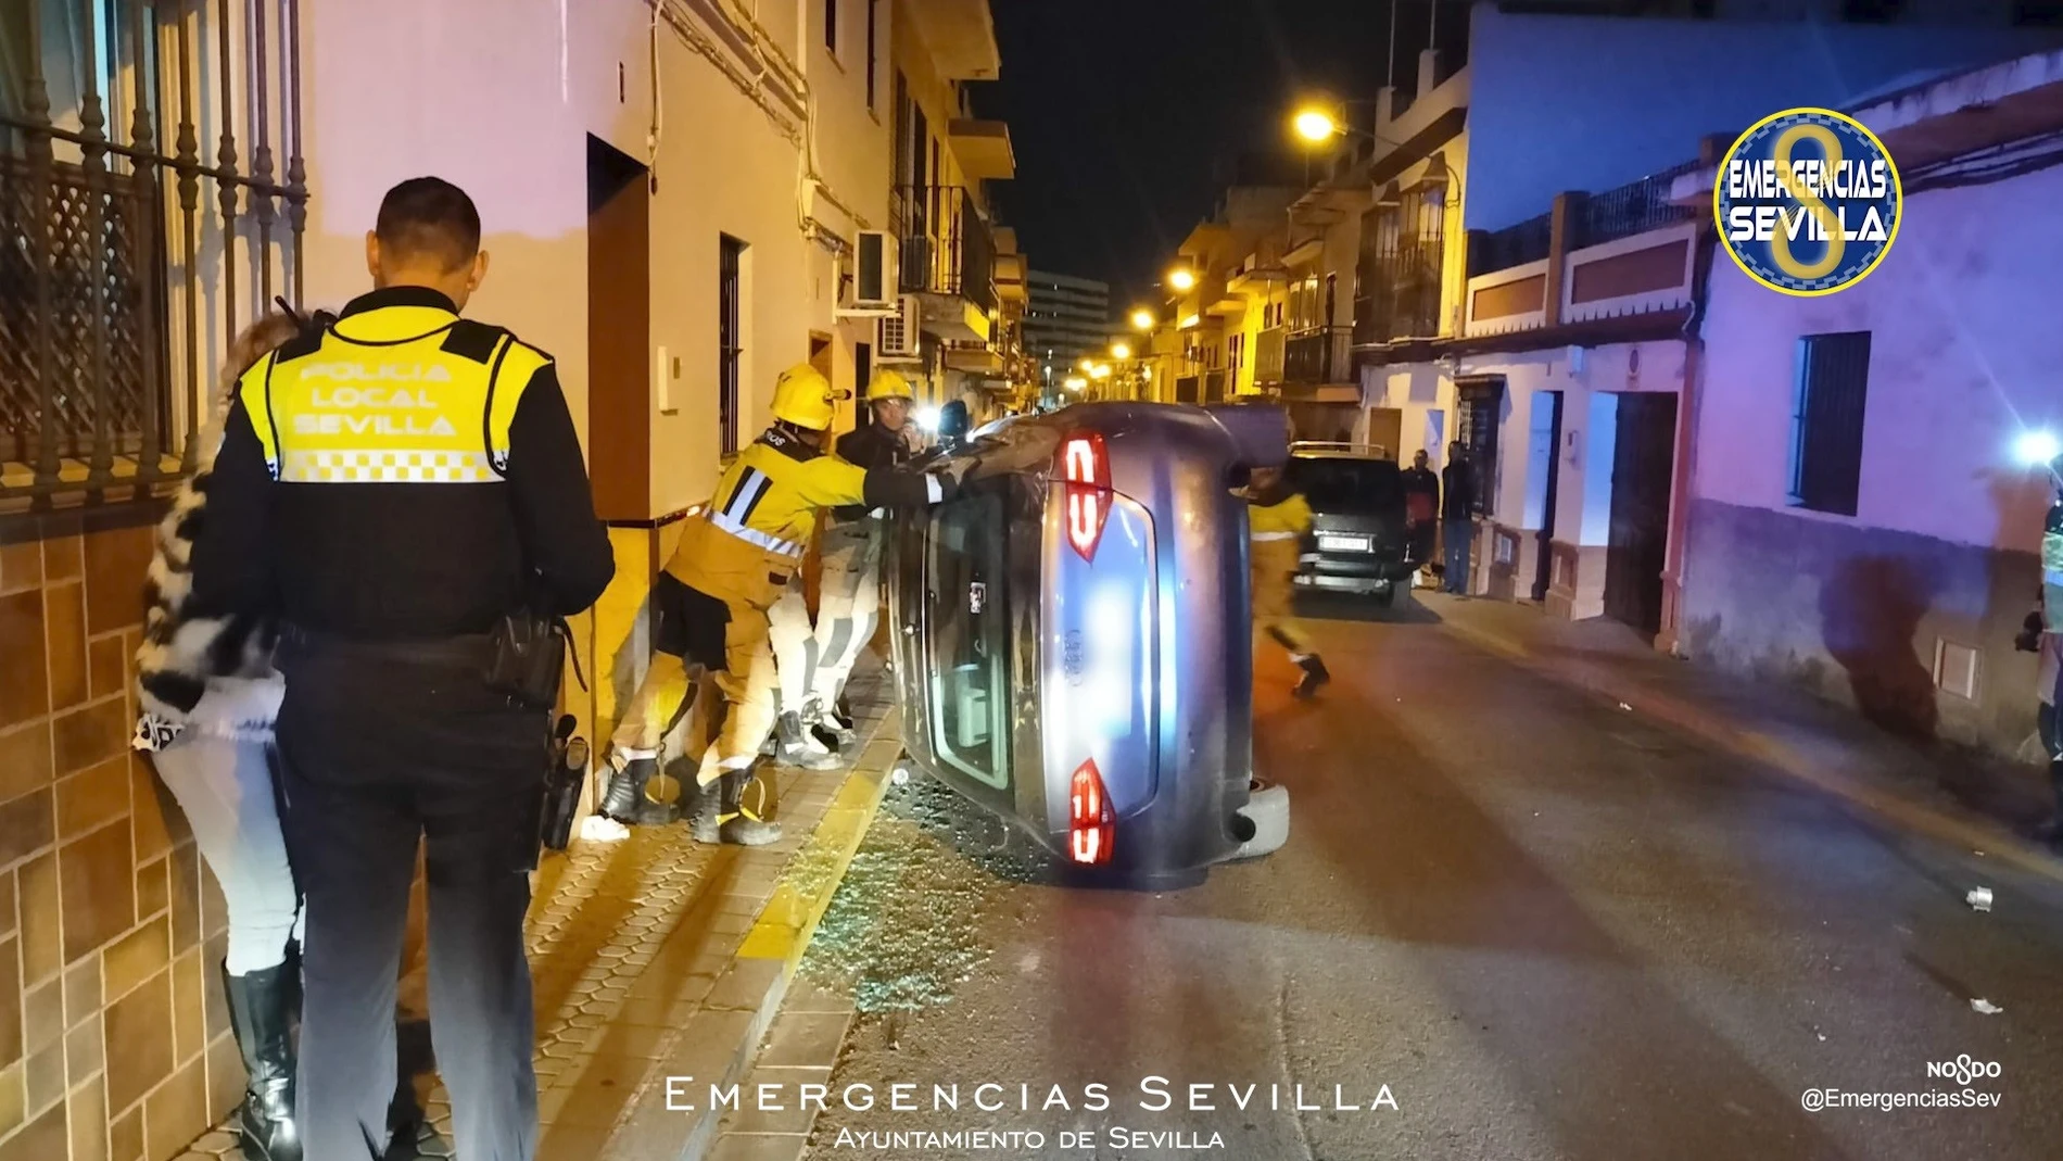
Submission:
[[[2034,656],[2013,633],[2055,483],[2013,445],[2063,431],[2063,237],[2032,225],[2063,196],[2063,54],[1853,115],[1906,194],[1877,270],[1818,299],[1712,270],[1681,648],[1910,736],[2032,757]],[[1690,173],[1681,194],[1710,184]]]

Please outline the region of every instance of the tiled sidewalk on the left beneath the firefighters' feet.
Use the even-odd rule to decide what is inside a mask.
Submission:
[[[788,980],[902,755],[899,714],[879,664],[854,674],[848,699],[860,732],[852,767],[778,771],[782,841],[708,848],[670,825],[613,843],[576,839],[538,868],[526,922],[538,1161],[701,1157],[718,1116],[670,1112],[666,1076],[693,1076],[697,1093],[739,1083],[761,1039],[761,1064],[821,1056],[829,1068],[825,1052],[838,1052],[850,1002],[815,990],[788,996]],[[404,1008],[411,994],[421,994],[419,980],[402,982]],[[767,1037],[776,1010],[782,1025]],[[411,1039],[406,1023],[402,1039]],[[417,1155],[452,1157],[444,1085],[427,1087],[427,1074],[417,1081],[427,1112]],[[177,1161],[237,1157],[235,1134],[217,1128]]]

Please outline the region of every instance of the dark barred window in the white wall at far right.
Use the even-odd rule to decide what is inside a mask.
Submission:
[[[1869,332],[1799,338],[1791,406],[1791,503],[1855,516],[1863,487]]]

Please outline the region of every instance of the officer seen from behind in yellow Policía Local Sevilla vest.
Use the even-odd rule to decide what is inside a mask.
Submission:
[[[305,891],[307,1161],[388,1138],[417,841],[460,1157],[536,1147],[522,918],[549,714],[489,689],[505,615],[582,610],[615,561],[553,361],[460,318],[487,274],[472,200],[386,194],[373,291],[252,367],[192,553],[196,615],[276,608],[287,843]]]

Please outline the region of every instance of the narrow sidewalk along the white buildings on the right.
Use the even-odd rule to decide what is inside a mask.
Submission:
[[[2036,767],[1894,738],[1807,691],[1657,654],[1611,621],[1562,621],[1502,600],[1426,592],[1415,598],[1456,637],[1489,654],[1667,722],[1904,829],[2063,883],[2063,858],[2028,837],[2049,815],[2046,777]]]

